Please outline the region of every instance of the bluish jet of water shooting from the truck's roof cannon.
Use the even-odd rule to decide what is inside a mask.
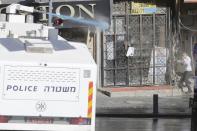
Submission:
[[[59,15],[59,14],[55,14],[55,13],[47,13],[47,14],[51,15],[53,17],[61,18],[62,20],[71,20],[76,23],[86,24],[86,25],[90,25],[90,26],[96,26],[96,27],[100,28],[101,30],[106,30],[109,28],[109,24],[104,21],[87,20],[87,19],[83,19],[83,18],[75,18],[75,17],[66,16],[66,15]]]

